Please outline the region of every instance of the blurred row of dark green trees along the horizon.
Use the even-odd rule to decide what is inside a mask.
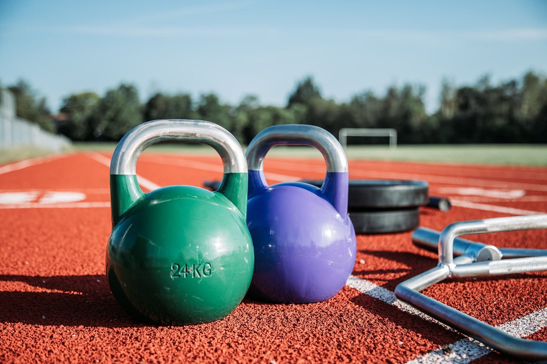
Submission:
[[[230,105],[214,93],[194,99],[188,93],[158,92],[143,104],[137,88],[122,83],[102,97],[94,92],[67,96],[59,110],[63,118],[54,123],[45,99],[28,83],[19,81],[9,89],[19,116],[72,140],[116,141],[139,123],[177,118],[215,122],[243,144],[264,128],[294,123],[313,124],[334,135],[344,127],[395,128],[401,144],[547,142],[547,79],[532,71],[497,85],[488,76],[459,87],[443,80],[439,109],[430,115],[421,85],[391,86],[383,95],[363,91],[337,103],[323,97],[312,77],[305,77],[283,107],[262,105],[253,95]]]

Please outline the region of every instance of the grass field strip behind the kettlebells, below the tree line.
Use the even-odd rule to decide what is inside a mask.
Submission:
[[[77,150],[112,151],[116,143],[83,142],[75,143]],[[155,145],[149,151],[162,153],[215,154],[205,145],[163,144]],[[277,146],[271,156],[321,157],[312,147]],[[387,146],[348,146],[348,159],[407,160],[415,162],[505,164],[505,165],[547,165],[547,145],[538,144],[463,144],[463,145],[399,145],[390,150]]]

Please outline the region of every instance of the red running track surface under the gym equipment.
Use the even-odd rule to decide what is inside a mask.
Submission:
[[[436,262],[411,243],[410,232],[358,236],[353,275],[327,302],[246,299],[216,323],[134,323],[104,276],[109,158],[88,152],[0,166],[0,362],[511,362],[395,299],[398,283]],[[267,157],[265,171],[277,183],[321,178],[325,166]],[[137,173],[149,190],[202,186],[222,177],[222,167],[219,157],[144,153]],[[351,178],[409,176],[428,181],[436,195],[472,203],[449,213],[423,208],[421,225],[436,230],[458,220],[547,212],[547,168],[350,160]],[[547,231],[468,238],[546,248]],[[447,281],[424,293],[513,335],[547,341],[545,278]]]

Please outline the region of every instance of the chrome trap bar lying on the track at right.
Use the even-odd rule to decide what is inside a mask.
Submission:
[[[485,277],[547,270],[547,250],[498,249],[458,238],[469,234],[531,229],[547,229],[547,214],[457,222],[446,226],[440,233],[427,228],[416,229],[412,241],[428,250],[438,249],[439,264],[397,285],[395,295],[500,353],[520,360],[547,361],[547,342],[509,335],[420,293],[450,277]],[[459,256],[454,258],[455,255]]]

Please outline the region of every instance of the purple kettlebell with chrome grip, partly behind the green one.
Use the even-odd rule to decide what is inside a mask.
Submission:
[[[321,188],[266,184],[264,157],[275,145],[316,147],[327,163]],[[252,294],[283,303],[328,300],[346,284],[357,242],[347,213],[346,154],[332,134],[311,125],[277,125],[247,148],[247,226],[254,246]]]

